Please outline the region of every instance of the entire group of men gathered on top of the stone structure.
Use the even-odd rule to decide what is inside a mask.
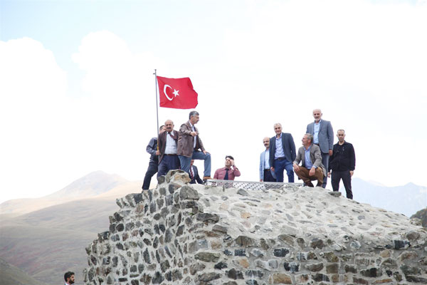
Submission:
[[[273,138],[264,138],[265,151],[260,155],[260,181],[283,182],[284,172],[288,182],[294,182],[294,172],[305,185],[326,187],[327,177],[331,177],[332,189],[339,190],[339,181],[344,182],[347,198],[352,199],[351,177],[354,173],[355,155],[353,145],[344,140],[344,130],[338,130],[338,142],[334,145],[332,125],[322,120],[322,111],[313,110],[315,121],[307,125],[302,137],[302,147],[295,150],[295,142],[290,133],[283,133],[282,125],[275,123]],[[195,127],[199,122],[199,113],[191,111],[189,120],[179,130],[174,130],[172,120],[167,120],[159,129],[158,138],[152,138],[147,145],[150,162],[144,177],[143,190],[149,189],[152,176],[166,175],[169,170],[181,169],[189,173],[191,183],[202,183],[211,179],[211,155],[206,152],[201,141],[199,130]],[[204,177],[194,160],[204,160]],[[301,165],[300,165],[301,162]],[[216,170],[214,179],[234,180],[241,175],[231,155],[226,156],[225,167]]]

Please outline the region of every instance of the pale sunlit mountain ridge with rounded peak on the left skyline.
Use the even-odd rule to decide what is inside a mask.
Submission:
[[[77,199],[87,199],[101,195],[125,183],[127,183],[127,180],[118,175],[95,171],[75,180],[70,185],[51,195],[34,199],[12,199],[6,201],[0,204],[0,214],[25,214],[56,204]]]

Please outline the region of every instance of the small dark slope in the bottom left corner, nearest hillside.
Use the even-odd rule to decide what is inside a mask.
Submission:
[[[33,279],[24,271],[0,259],[0,284],[1,285],[43,285]]]

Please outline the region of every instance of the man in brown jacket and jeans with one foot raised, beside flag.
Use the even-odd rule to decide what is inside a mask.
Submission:
[[[204,160],[203,180],[211,179],[211,155],[201,142],[199,130],[195,127],[199,122],[199,113],[191,111],[189,120],[179,128],[177,154],[181,170],[189,173],[191,160]]]

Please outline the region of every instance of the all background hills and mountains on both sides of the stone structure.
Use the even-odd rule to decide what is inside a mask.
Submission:
[[[88,264],[85,247],[108,229],[108,217],[119,209],[115,199],[141,192],[141,185],[92,172],[52,195],[0,204],[0,258],[4,259],[0,284],[61,284],[68,270],[75,272],[76,285],[83,284],[82,272]],[[355,178],[353,189],[358,202],[408,217],[427,207],[426,187],[384,187]],[[340,190],[344,192],[343,187]],[[27,281],[16,276],[26,276]]]

